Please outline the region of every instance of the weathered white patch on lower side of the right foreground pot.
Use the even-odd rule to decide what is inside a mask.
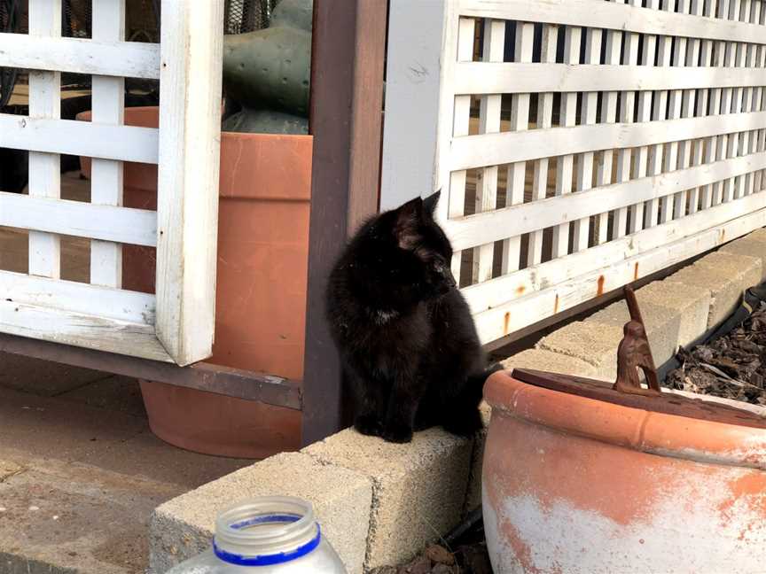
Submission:
[[[747,471],[731,469],[731,474],[745,478]],[[484,524],[492,568],[504,574],[530,571],[522,569],[506,542],[500,530],[504,525],[518,532],[520,542],[529,548],[527,561],[534,571],[763,571],[762,557],[754,548],[766,543],[766,524],[754,511],[754,500],[743,498],[731,505],[723,526],[721,508],[730,503],[725,487],[690,479],[675,481],[667,488],[664,498],[646,508],[645,520],[630,524],[564,500],[543,503],[530,494],[507,497],[499,508],[492,508],[485,495]]]

